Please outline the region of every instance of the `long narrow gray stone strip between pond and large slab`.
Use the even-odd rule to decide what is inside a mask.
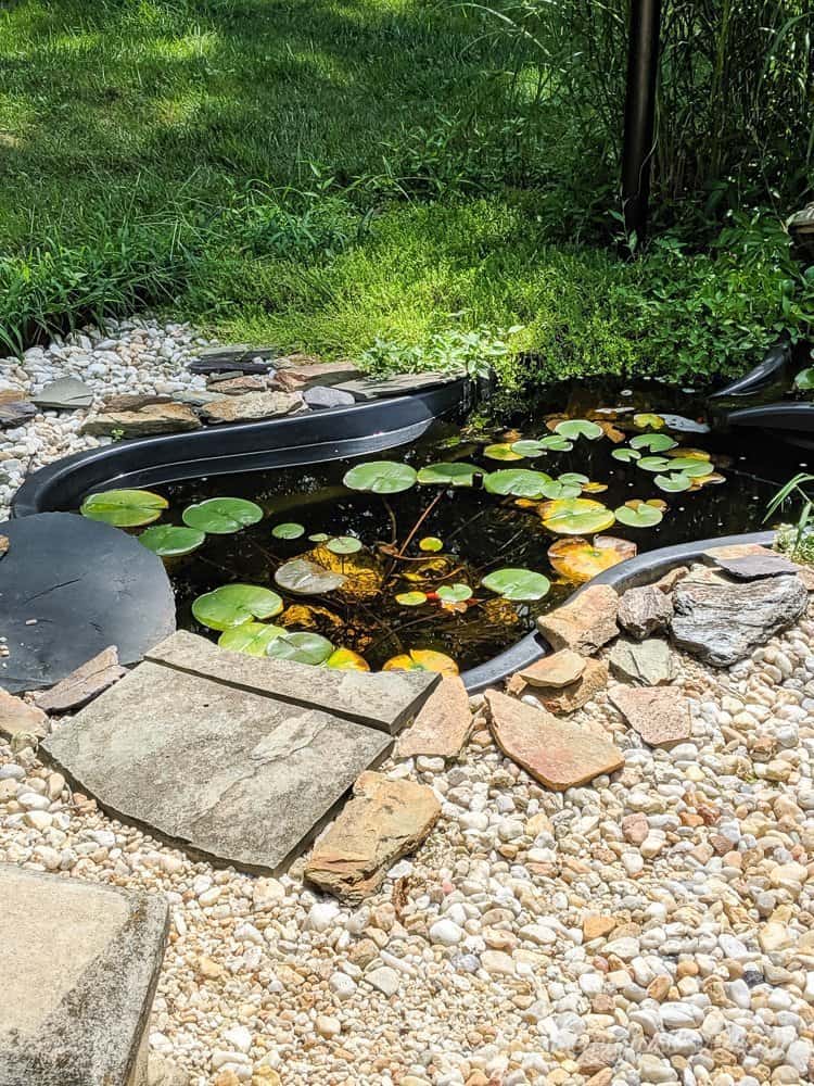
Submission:
[[[246,656],[218,648],[186,630],[156,645],[147,658],[239,690],[335,712],[391,735],[416,716],[440,679],[431,671],[329,671]]]

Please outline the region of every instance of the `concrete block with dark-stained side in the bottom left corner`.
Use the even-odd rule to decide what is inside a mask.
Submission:
[[[0,864],[0,1086],[142,1086],[161,895]]]

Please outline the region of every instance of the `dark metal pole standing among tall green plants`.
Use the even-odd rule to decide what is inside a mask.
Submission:
[[[635,235],[638,243],[647,233],[660,26],[661,0],[631,0],[622,211],[627,236]]]

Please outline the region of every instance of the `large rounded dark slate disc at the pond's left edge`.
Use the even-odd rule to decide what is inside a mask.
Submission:
[[[110,645],[137,664],[175,630],[164,564],[119,528],[72,513],[0,525],[0,629],[9,656],[0,686],[53,686]]]

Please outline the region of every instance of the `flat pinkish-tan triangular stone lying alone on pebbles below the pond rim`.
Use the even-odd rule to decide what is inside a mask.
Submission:
[[[609,740],[558,720],[545,709],[486,691],[489,725],[507,758],[555,792],[587,784],[624,765]]]

